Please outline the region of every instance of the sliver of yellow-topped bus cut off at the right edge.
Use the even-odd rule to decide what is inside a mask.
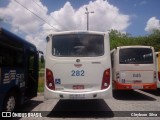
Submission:
[[[160,88],[160,52],[156,52],[157,88]]]

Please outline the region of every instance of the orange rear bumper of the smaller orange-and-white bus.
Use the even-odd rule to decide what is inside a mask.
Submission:
[[[123,84],[117,81],[113,81],[113,89],[115,90],[133,90],[133,89],[143,89],[143,90],[156,90],[157,83],[138,83],[138,84]]]

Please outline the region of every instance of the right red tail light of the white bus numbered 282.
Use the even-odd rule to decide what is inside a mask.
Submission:
[[[103,73],[101,90],[108,88],[109,85],[110,85],[110,69],[107,69]]]

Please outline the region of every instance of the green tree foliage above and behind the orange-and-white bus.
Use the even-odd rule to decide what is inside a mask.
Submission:
[[[155,51],[160,51],[160,30],[154,30],[150,35],[132,37],[130,34],[123,34],[117,30],[110,31],[111,50],[118,46],[145,45],[153,46]]]

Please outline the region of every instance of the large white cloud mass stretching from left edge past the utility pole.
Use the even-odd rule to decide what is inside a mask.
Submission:
[[[130,16],[122,14],[107,0],[90,1],[76,9],[66,2],[56,11],[48,11],[40,0],[11,0],[6,8],[0,8],[0,17],[10,21],[13,32],[23,32],[26,40],[44,50],[45,38],[50,33],[86,30],[86,7],[94,11],[89,14],[90,30],[117,29],[123,32],[130,25]]]

